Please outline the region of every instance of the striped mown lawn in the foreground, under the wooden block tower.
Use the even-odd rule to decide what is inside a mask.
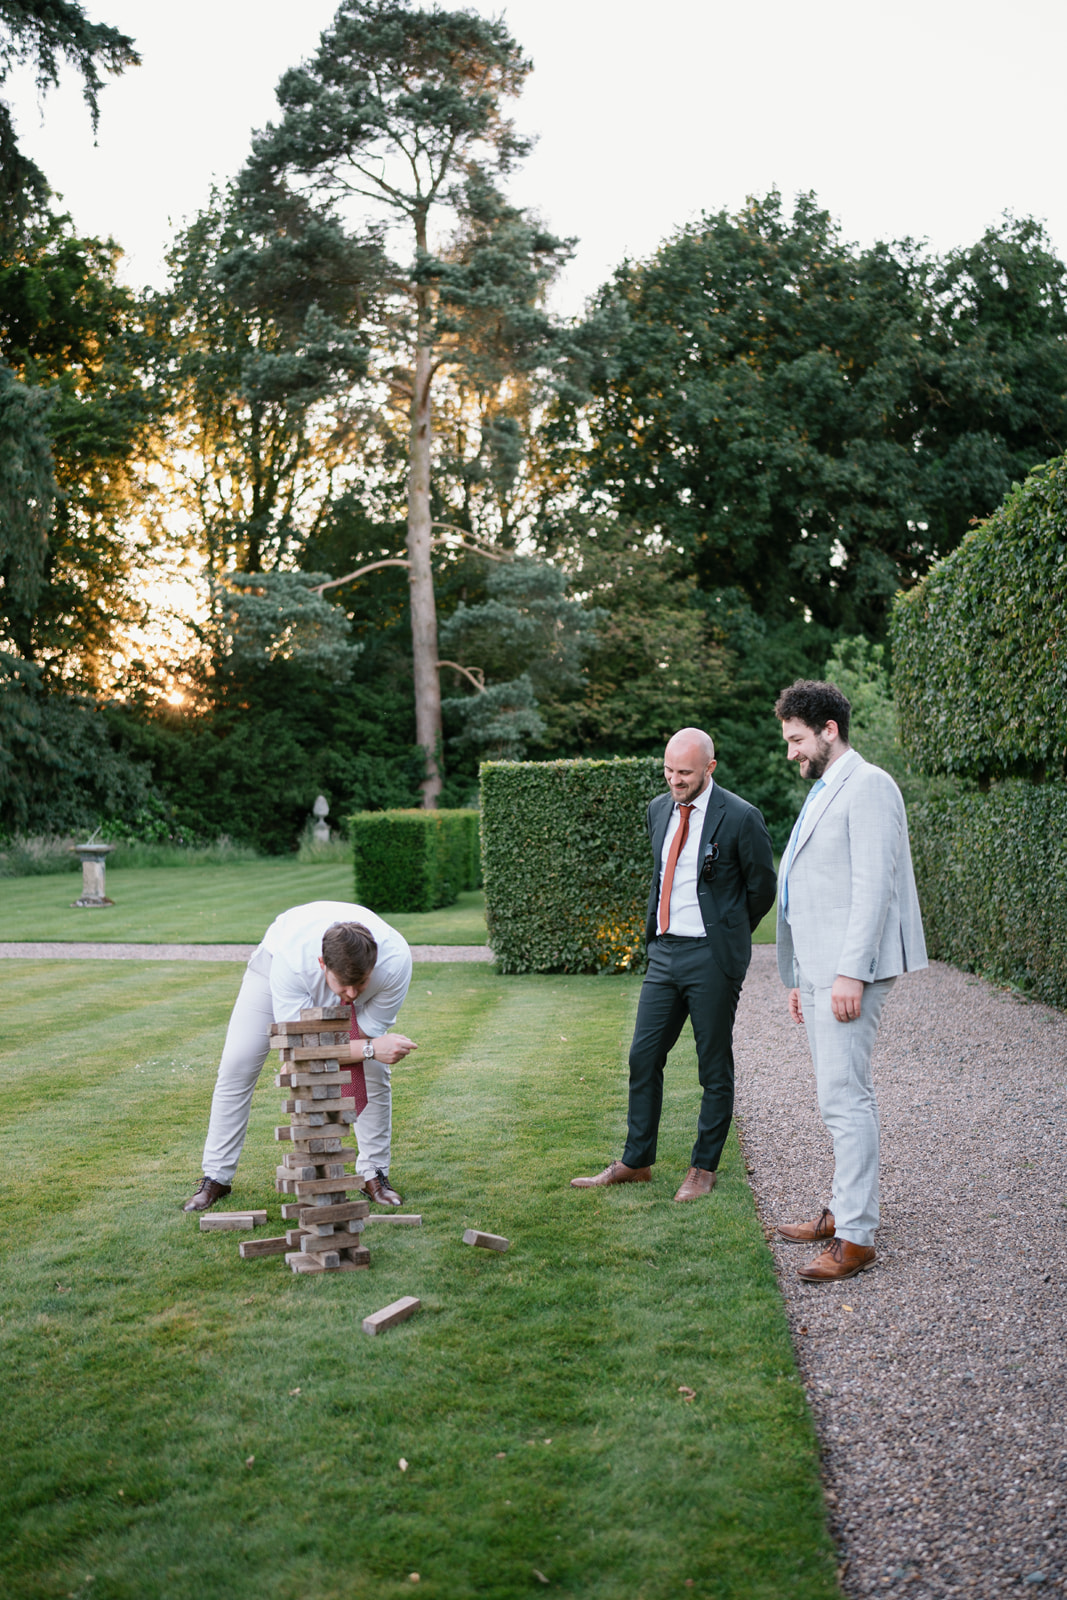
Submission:
[[[179,1210],[238,976],[3,966],[5,1597],[837,1595],[736,1144],[709,1202],[670,1200],[688,1048],[656,1181],[568,1187],[619,1150],[637,982],[418,966],[394,1178],[424,1226],[298,1278]],[[266,1080],[226,1205],[280,1232]],[[400,1294],[422,1310],[368,1339]]]

